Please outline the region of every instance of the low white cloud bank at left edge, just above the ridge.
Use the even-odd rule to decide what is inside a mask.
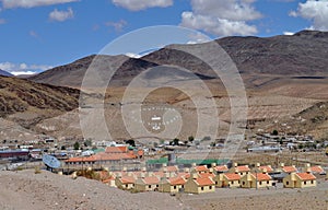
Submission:
[[[0,69],[8,71],[14,75],[34,74],[51,68],[52,67],[48,65],[26,65],[24,62],[22,63],[0,62]]]

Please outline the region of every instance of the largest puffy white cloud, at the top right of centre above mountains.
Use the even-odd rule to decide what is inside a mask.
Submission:
[[[256,25],[248,21],[262,16],[255,0],[191,0],[192,11],[181,14],[181,26],[201,30],[216,36],[254,35]]]

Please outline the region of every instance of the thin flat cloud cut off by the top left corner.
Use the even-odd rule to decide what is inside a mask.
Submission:
[[[12,8],[34,8],[42,5],[52,5],[58,3],[69,3],[79,0],[0,0],[4,9]]]

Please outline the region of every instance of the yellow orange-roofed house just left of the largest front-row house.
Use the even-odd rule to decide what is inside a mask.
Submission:
[[[163,192],[179,192],[185,188],[186,182],[187,179],[184,177],[166,178],[161,182],[159,190]]]

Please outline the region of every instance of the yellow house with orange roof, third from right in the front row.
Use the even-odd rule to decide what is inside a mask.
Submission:
[[[239,187],[241,186],[241,178],[242,176],[239,174],[235,173],[223,173],[219,174],[213,178],[215,182],[216,187]]]

